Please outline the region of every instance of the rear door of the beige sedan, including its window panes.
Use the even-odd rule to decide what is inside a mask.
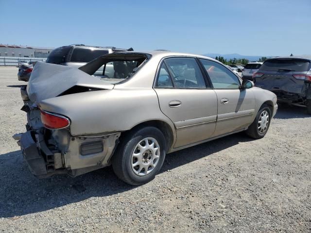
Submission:
[[[174,148],[212,137],[217,96],[194,57],[166,58],[160,64],[155,92],[161,111],[174,123]]]

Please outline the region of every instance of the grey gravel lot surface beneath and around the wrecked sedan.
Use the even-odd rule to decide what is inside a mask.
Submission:
[[[150,183],[110,167],[38,180],[12,138],[24,132],[16,67],[0,67],[0,231],[311,232],[311,117],[280,106],[260,140],[243,133],[167,155]]]

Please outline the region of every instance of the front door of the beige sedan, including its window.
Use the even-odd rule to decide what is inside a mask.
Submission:
[[[255,114],[255,96],[251,89],[241,89],[239,78],[220,63],[200,59],[217,95],[217,123],[214,136],[249,126]]]

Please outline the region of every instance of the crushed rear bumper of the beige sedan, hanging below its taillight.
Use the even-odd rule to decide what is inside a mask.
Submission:
[[[37,178],[46,178],[56,174],[75,177],[109,166],[120,134],[74,137],[74,140],[70,140],[69,150],[65,155],[56,150],[54,143],[47,144],[44,140],[45,134],[38,131],[17,133],[13,137],[18,140],[17,144],[20,145],[23,157],[32,173]]]

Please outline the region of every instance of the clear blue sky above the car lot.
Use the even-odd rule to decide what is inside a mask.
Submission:
[[[0,43],[311,54],[311,0],[0,0]]]

